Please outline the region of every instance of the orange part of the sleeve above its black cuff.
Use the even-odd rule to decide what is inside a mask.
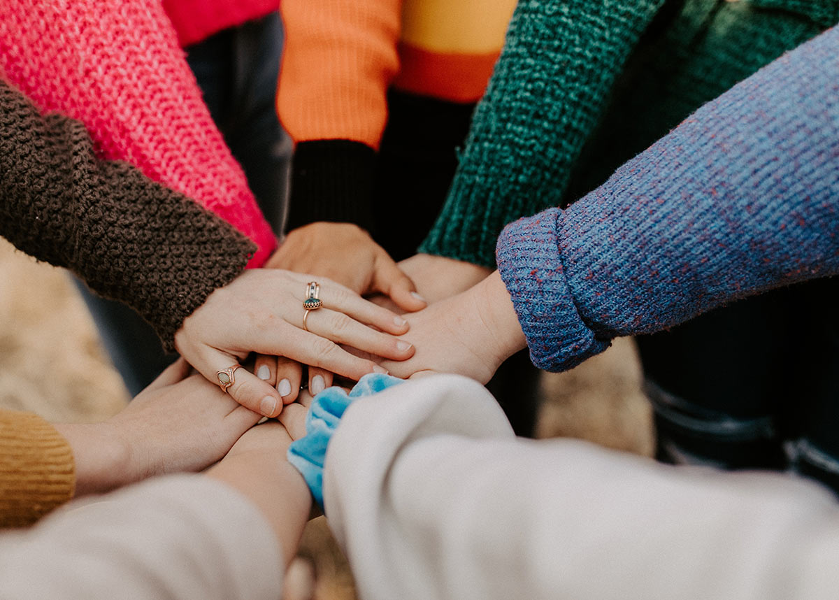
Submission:
[[[378,149],[399,68],[401,0],[283,0],[277,112],[294,142],[346,139]]]

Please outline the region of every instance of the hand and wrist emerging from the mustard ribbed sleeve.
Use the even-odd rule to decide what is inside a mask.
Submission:
[[[104,493],[161,473],[200,471],[223,457],[259,415],[179,359],[118,415],[55,425],[76,461],[76,496]]]

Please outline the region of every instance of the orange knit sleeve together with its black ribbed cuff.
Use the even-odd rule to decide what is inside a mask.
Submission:
[[[373,229],[376,151],[399,63],[399,0],[280,5],[285,52],[277,112],[297,144],[288,228],[315,221]]]

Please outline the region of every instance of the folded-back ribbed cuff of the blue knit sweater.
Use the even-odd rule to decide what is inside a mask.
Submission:
[[[551,208],[519,219],[498,238],[498,271],[519,316],[534,365],[565,371],[603,352],[611,341],[598,339],[576,308],[565,280],[557,222]]]

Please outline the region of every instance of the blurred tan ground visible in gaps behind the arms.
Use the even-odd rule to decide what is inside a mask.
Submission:
[[[628,339],[568,373],[546,375],[537,435],[580,437],[649,455],[649,405],[639,382],[638,358]],[[66,272],[36,263],[0,240],[0,407],[59,422],[94,422],[127,401]],[[318,574],[316,598],[355,597],[324,519],[310,524],[300,552]]]

